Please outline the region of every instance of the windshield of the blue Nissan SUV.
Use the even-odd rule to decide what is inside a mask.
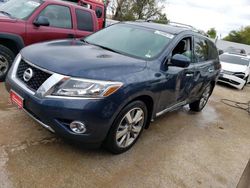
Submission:
[[[125,55],[150,59],[158,56],[173,37],[157,30],[116,24],[85,38],[85,41]]]

